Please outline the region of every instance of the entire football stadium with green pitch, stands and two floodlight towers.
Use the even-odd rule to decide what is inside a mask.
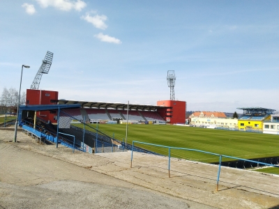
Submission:
[[[58,91],[38,90],[40,72],[50,70],[52,56],[47,52],[27,89],[26,105],[19,108],[20,126],[36,139],[89,153],[135,150],[239,169],[271,166],[269,171],[279,173],[272,166],[279,161],[279,135],[262,134],[264,123],[278,123],[276,110],[241,107],[243,115],[234,128],[218,125],[218,118],[206,112],[191,118],[195,125],[185,125],[187,102],[174,98],[173,70],[167,72],[170,99],[157,105],[59,99]]]

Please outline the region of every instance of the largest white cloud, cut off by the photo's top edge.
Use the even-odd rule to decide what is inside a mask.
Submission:
[[[42,8],[47,8],[49,6],[53,6],[59,10],[69,11],[69,10],[77,10],[81,11],[84,7],[86,7],[86,3],[81,0],[70,1],[70,0],[36,0]]]

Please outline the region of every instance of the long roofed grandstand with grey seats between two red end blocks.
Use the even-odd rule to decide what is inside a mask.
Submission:
[[[83,100],[63,100],[58,98],[58,91],[27,89],[26,105],[45,104],[80,104],[80,109],[73,109],[70,115],[77,120],[91,123],[156,123],[176,124],[186,121],[186,102],[178,100],[160,100],[157,105],[128,104],[119,102],[93,102]],[[128,113],[128,116],[127,116]],[[36,116],[51,123],[57,123],[58,111],[39,111]],[[115,123],[115,122],[114,122]]]

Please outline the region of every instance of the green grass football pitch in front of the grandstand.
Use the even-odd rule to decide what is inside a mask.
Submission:
[[[97,127],[96,124],[90,124]],[[126,125],[98,124],[98,130],[122,141],[126,138]],[[210,153],[229,155],[244,159],[279,156],[279,135],[214,130],[178,125],[128,125],[127,143],[142,141],[163,146],[193,148]],[[167,148],[135,144],[142,148],[168,155]],[[200,162],[218,162],[218,156],[197,153],[189,150],[171,151],[172,157],[197,160]],[[225,159],[223,161],[231,161]]]

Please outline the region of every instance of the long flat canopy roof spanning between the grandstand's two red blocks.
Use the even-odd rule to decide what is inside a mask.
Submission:
[[[98,109],[127,109],[128,103],[112,103],[112,102],[87,102],[77,100],[58,100],[59,104],[80,104],[83,108],[98,108]],[[130,110],[140,111],[157,111],[158,109],[166,109],[171,107],[157,106],[151,104],[129,104]]]

